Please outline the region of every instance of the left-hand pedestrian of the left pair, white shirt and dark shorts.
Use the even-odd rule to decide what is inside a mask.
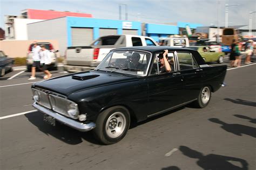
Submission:
[[[33,47],[32,47],[32,59],[33,59],[33,64],[31,68],[31,76],[28,80],[35,80],[36,79],[36,68],[41,69],[40,67],[40,52],[41,52],[41,47],[38,46],[37,41],[33,42]]]

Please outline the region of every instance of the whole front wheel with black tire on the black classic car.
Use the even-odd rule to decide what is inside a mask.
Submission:
[[[116,106],[99,114],[93,133],[100,142],[109,145],[122,140],[129,130],[129,126],[129,111],[122,106]]]

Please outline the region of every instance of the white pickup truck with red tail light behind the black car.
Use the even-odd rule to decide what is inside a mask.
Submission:
[[[94,69],[111,49],[132,46],[158,46],[150,37],[111,35],[99,37],[90,46],[68,47],[64,70],[78,72]]]

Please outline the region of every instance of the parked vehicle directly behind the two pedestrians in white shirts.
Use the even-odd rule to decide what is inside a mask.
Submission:
[[[51,56],[51,64],[49,66],[50,70],[58,70],[58,62],[57,62],[57,55],[56,53],[59,52],[58,50],[55,51],[53,48],[53,45],[50,42],[37,42],[37,44],[40,45],[45,45],[46,49],[50,51],[50,56]],[[33,52],[32,52],[32,47],[33,44],[29,45],[28,49],[28,55],[26,57],[26,67],[28,71],[31,71],[32,63],[33,63]]]

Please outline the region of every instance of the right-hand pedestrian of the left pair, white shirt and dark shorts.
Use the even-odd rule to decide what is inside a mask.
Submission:
[[[52,74],[49,72],[48,70],[48,65],[51,63],[51,57],[50,57],[50,53],[49,50],[46,49],[45,45],[41,45],[42,48],[42,55],[41,55],[41,65],[42,65],[42,70],[43,72],[46,74],[44,76],[44,79],[50,79]]]

